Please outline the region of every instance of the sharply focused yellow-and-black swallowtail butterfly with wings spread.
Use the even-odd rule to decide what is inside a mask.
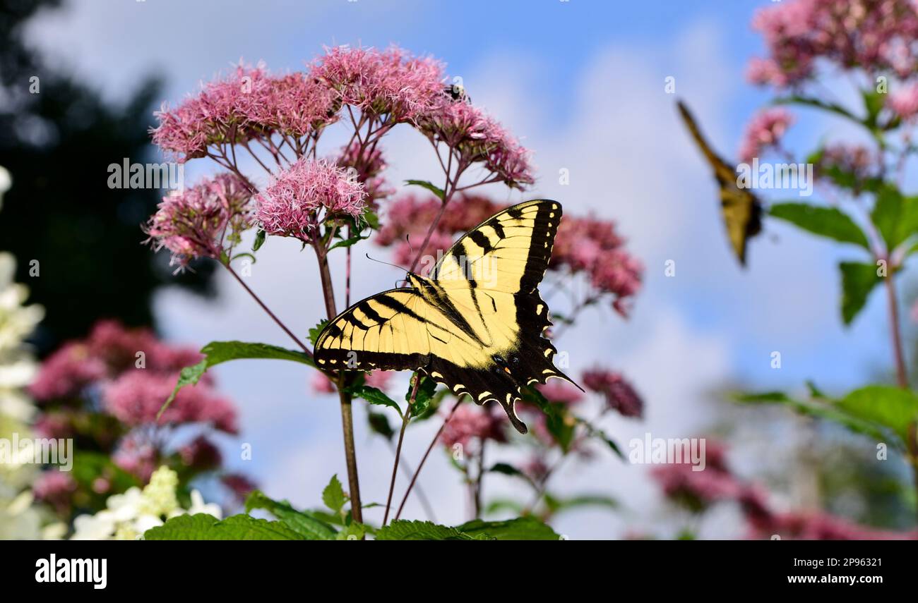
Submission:
[[[571,378],[554,367],[552,323],[539,283],[552,256],[561,204],[513,205],[462,236],[428,277],[377,293],[335,316],[319,334],[315,359],[326,370],[414,369],[481,405],[514,409],[521,389]],[[579,388],[579,386],[577,386]]]

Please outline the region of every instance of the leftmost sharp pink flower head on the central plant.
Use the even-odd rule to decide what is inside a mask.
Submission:
[[[229,255],[252,226],[251,197],[248,184],[232,174],[163,197],[146,225],[148,240],[157,251],[169,249],[179,269],[195,258]]]

